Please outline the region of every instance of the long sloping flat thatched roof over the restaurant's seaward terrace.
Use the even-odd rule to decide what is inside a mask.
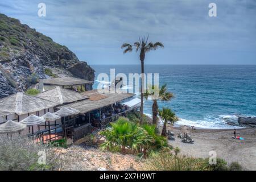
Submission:
[[[131,94],[131,93],[100,94],[100,93],[97,93],[96,90],[93,90],[93,91],[91,90],[91,91],[88,91],[88,92],[84,92],[82,94],[87,95],[89,98],[90,98],[90,96],[95,96],[96,94],[98,94],[99,97],[104,96],[104,98],[101,98],[100,100],[90,100],[90,99],[89,100],[83,100],[83,101],[75,102],[75,103],[68,104],[68,105],[65,105],[65,106],[61,106],[59,108],[72,107],[74,109],[79,110],[80,113],[87,113],[89,111],[100,109],[101,107],[114,104],[115,102],[125,100],[126,98],[130,98],[130,97],[133,97],[135,95],[135,94]]]

